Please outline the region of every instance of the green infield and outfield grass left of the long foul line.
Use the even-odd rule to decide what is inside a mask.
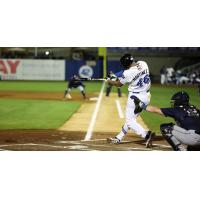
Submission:
[[[102,86],[102,82],[84,84],[88,93],[99,92]],[[64,81],[0,81],[0,91],[64,92],[66,86]],[[80,105],[78,101],[0,99],[0,129],[57,129]]]

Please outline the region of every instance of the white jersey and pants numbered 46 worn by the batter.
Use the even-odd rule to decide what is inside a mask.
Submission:
[[[150,103],[150,86],[151,80],[149,77],[149,68],[146,62],[138,61],[137,66],[130,67],[125,70],[119,81],[125,85],[128,84],[128,100],[126,105],[126,122],[122,127],[121,132],[116,136],[122,140],[128,129],[132,129],[136,134],[145,138],[147,130],[145,130],[137,121],[139,113],[135,113],[137,105],[135,99],[139,99],[145,105]]]

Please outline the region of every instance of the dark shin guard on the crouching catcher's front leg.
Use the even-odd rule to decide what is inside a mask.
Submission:
[[[163,137],[166,139],[166,141],[171,145],[174,151],[185,151],[185,147],[178,141],[172,134],[173,131],[173,123],[169,124],[161,124],[160,130],[163,135]]]

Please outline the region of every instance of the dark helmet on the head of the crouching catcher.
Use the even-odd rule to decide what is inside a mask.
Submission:
[[[190,97],[187,92],[181,91],[175,93],[171,98],[172,107],[189,105]]]

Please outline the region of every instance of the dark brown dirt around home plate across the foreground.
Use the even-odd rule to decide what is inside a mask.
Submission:
[[[1,130],[0,150],[15,151],[150,151],[171,148],[160,136],[155,138],[153,147],[145,148],[144,140],[127,136],[121,144],[108,144],[106,136],[95,133],[95,139],[84,141],[84,132],[63,132],[57,130]]]

